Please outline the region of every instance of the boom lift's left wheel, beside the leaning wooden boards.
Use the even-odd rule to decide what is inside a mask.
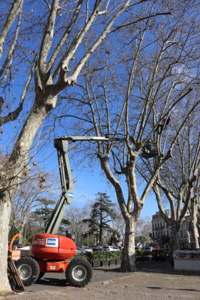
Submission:
[[[25,286],[33,284],[39,276],[39,265],[32,257],[22,257],[15,261],[16,269]]]

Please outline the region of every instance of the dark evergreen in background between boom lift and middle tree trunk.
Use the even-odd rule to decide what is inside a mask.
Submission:
[[[89,227],[99,231],[99,243],[101,244],[103,230],[112,231],[109,222],[116,217],[116,212],[113,208],[115,204],[111,202],[106,193],[98,192],[96,195],[98,197],[91,206]]]

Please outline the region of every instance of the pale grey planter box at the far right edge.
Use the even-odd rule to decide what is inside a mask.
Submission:
[[[200,271],[200,251],[173,251],[174,270]]]

